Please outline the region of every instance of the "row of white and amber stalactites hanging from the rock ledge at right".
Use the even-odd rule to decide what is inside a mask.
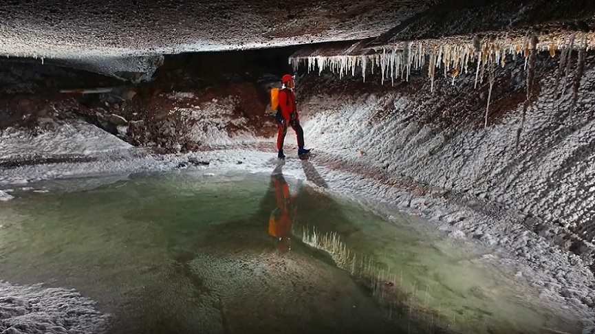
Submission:
[[[521,56],[525,58],[525,69],[528,70],[527,100],[523,106],[522,128],[524,114],[532,98],[531,91],[534,67],[537,63],[537,52],[550,52],[552,57],[556,56],[556,52],[561,52],[560,69],[556,80],[557,86],[562,74],[565,74],[565,82],[568,79],[570,71],[570,61],[567,61],[570,58],[569,51],[572,52],[573,49],[578,49],[577,73],[582,76],[585,54],[594,46],[595,35],[592,33],[567,31],[538,37],[534,32],[530,32],[524,38],[518,39],[488,38],[482,41],[475,38],[468,43],[449,43],[448,41],[435,40],[405,42],[391,47],[382,47],[377,49],[376,53],[367,55],[290,58],[290,65],[293,65],[294,69],[297,70],[300,65],[305,64],[309,72],[317,68],[318,74],[321,74],[325,69],[329,69],[333,73],[339,74],[340,77],[349,73],[355,76],[356,69],[359,67],[364,81],[368,69],[374,74],[374,71],[378,71],[378,68],[380,68],[382,83],[385,80],[391,80],[393,85],[395,80],[399,78],[409,80],[412,69],[419,70],[428,66],[431,91],[434,89],[434,78],[437,70],[443,71],[445,77],[450,77],[454,85],[455,78],[459,74],[467,74],[469,67],[474,66],[475,87],[477,87],[478,82],[480,85],[484,83],[487,72],[489,85],[485,120],[485,126],[487,126],[495,67],[504,67],[508,56],[512,56],[513,60]],[[580,83],[580,78],[578,78],[578,83]],[[577,80],[574,80],[573,92],[578,90],[578,83]],[[576,102],[576,96],[573,97],[573,100]],[[574,104],[572,107],[574,108]]]

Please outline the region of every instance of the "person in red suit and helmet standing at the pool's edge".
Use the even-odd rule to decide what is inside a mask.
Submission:
[[[285,159],[283,154],[283,142],[285,142],[285,135],[287,135],[288,125],[296,133],[298,144],[298,155],[305,155],[310,153],[310,150],[304,148],[304,132],[299,123],[299,115],[296,108],[296,100],[294,93],[294,78],[290,74],[285,74],[281,78],[281,90],[279,91],[279,107],[275,118],[279,125],[279,135],[277,135],[277,149],[279,150],[279,159]]]

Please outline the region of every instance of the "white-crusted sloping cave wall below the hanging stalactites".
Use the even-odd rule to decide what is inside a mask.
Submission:
[[[455,89],[449,87],[451,80],[439,80],[435,93],[429,92],[426,80],[413,88],[376,89],[368,96],[354,97],[348,91],[304,94],[302,109],[310,114],[306,137],[317,149],[396,178],[468,192],[541,218],[549,226],[535,232],[544,236],[568,227],[592,242],[595,64],[587,62],[576,109],[570,113],[572,89],[553,98],[552,63],[541,64],[535,85],[539,97],[526,115],[518,152],[526,78],[518,64],[497,72],[495,105],[486,129],[487,84],[473,89],[475,75],[470,73],[457,78]],[[321,85],[332,89],[328,82]],[[528,226],[537,229],[531,221],[526,221]],[[577,254],[587,250],[582,242],[557,243]]]

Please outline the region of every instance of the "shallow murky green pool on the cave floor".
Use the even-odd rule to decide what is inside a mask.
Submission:
[[[389,220],[290,178],[294,234],[281,252],[269,234],[280,180],[147,175],[17,192],[0,203],[0,280],[78,289],[113,313],[110,333],[578,332],[539,307],[537,291],[415,227],[422,221]],[[312,227],[336,233],[383,288],[301,243]]]

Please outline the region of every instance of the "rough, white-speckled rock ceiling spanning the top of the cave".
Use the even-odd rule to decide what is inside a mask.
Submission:
[[[13,0],[0,8],[0,55],[150,76],[162,54],[590,30],[594,17],[592,0]]]

